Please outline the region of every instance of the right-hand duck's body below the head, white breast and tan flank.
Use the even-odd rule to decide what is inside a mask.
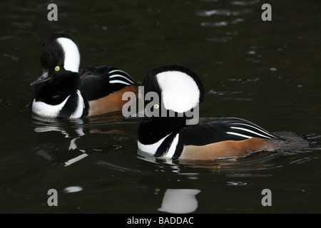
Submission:
[[[180,120],[166,120],[177,125]],[[183,123],[182,123],[183,124]],[[268,133],[263,128],[239,118],[200,118],[196,125],[184,125],[172,133],[152,142],[148,125],[156,123],[143,120],[138,130],[138,148],[156,157],[171,159],[213,160],[220,157],[236,157],[259,150],[276,150],[281,137]],[[159,131],[158,131],[159,133]],[[168,133],[168,132],[167,132]],[[149,137],[146,138],[145,136]]]

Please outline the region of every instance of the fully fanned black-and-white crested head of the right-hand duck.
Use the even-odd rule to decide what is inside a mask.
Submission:
[[[139,117],[188,117],[188,112],[198,108],[205,94],[198,75],[177,65],[153,69],[144,78],[142,86],[144,114],[138,113]]]

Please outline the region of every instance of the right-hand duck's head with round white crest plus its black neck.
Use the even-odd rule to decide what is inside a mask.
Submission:
[[[190,69],[176,65],[155,68],[144,78],[141,93],[144,113],[126,118],[145,117],[138,128],[140,142],[155,142],[186,124],[198,123],[198,105],[205,90]]]

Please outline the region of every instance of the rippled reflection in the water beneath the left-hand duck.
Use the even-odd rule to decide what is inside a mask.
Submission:
[[[86,149],[77,145],[77,140],[85,135],[128,135],[123,130],[111,128],[111,125],[118,122],[123,123],[123,115],[119,112],[71,120],[41,118],[38,115],[33,115],[33,120],[34,131],[39,133],[38,142],[35,146],[36,153],[49,161],[61,160],[62,157],[67,156],[68,158],[61,162],[63,166],[71,165],[88,156]],[[60,136],[54,134],[56,132],[60,133]],[[61,135],[63,135],[63,140],[61,140]],[[119,147],[119,145],[116,146]],[[66,150],[73,151],[72,157],[70,157],[70,154],[66,155]],[[91,150],[102,151],[99,147],[91,148]],[[59,152],[61,151],[63,151],[63,154],[60,156]]]

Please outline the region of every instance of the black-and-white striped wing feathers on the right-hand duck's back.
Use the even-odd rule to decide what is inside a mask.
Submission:
[[[235,120],[234,123],[228,124],[228,131],[226,131],[226,134],[228,135],[235,135],[241,138],[266,138],[266,139],[273,139],[277,138],[275,135],[272,135],[271,133],[268,133],[263,128],[260,128],[258,125],[255,125],[254,123],[251,123],[247,120],[242,120],[238,118],[233,118]]]

